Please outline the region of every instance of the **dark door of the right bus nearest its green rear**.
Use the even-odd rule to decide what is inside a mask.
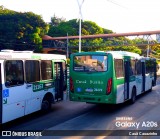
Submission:
[[[124,100],[129,99],[130,61],[124,61]]]

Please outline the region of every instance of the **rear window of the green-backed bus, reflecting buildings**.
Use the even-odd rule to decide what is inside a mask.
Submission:
[[[77,72],[103,72],[107,71],[106,55],[74,56],[73,70]]]

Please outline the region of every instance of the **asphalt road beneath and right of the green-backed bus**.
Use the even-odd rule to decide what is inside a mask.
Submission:
[[[80,115],[74,119],[68,120],[57,126],[48,129],[51,131],[70,130],[79,131],[77,136],[56,136],[56,138],[105,138],[105,139],[159,139],[160,138],[160,85],[153,88],[150,93],[145,93],[137,98],[133,105],[128,103],[109,107],[110,105],[95,106],[88,113]],[[125,125],[125,123],[132,123]],[[109,130],[109,132],[108,132]],[[121,130],[126,135],[121,135]],[[125,132],[127,131],[128,132]],[[144,131],[154,136],[132,136],[141,135]],[[94,133],[96,131],[100,131]],[[103,131],[106,131],[103,132]],[[61,132],[63,134],[63,132]],[[110,136],[113,133],[113,136]],[[70,133],[71,134],[71,133]],[[79,135],[78,135],[79,134]],[[157,136],[157,135],[159,136]],[[80,136],[81,135],[81,136]],[[96,135],[96,137],[93,135]],[[122,134],[123,135],[123,134]],[[43,137],[41,137],[43,138]],[[47,137],[51,139],[52,137]]]

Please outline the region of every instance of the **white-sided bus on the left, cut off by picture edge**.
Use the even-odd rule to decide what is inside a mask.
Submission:
[[[0,124],[47,111],[63,100],[66,56],[31,51],[0,52]]]

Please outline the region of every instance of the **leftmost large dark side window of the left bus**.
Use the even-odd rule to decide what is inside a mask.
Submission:
[[[5,63],[7,87],[24,83],[23,62],[21,60],[7,60]]]

